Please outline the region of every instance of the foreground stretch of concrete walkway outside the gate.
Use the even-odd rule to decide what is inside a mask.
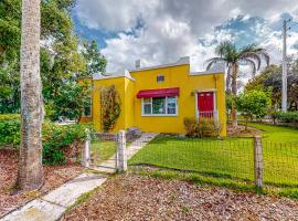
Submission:
[[[54,221],[84,193],[106,181],[103,175],[82,173],[60,188],[35,199],[19,210],[6,215],[1,221]]]

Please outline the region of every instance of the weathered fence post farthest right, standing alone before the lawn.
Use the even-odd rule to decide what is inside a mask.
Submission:
[[[263,145],[262,145],[262,137],[260,136],[255,136],[254,167],[255,167],[256,188],[262,189],[262,187],[263,187]]]

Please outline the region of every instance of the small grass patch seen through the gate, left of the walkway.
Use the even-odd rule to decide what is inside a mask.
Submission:
[[[92,141],[92,159],[94,164],[100,164],[109,159],[116,151],[115,141],[93,140]]]

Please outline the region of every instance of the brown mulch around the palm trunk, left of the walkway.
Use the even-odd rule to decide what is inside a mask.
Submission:
[[[0,218],[78,176],[82,170],[79,165],[44,166],[45,180],[41,190],[13,194],[18,175],[18,152],[13,149],[0,149]]]

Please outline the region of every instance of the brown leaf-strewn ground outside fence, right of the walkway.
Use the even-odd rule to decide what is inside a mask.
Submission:
[[[298,201],[119,175],[61,221],[66,220],[298,220]]]

